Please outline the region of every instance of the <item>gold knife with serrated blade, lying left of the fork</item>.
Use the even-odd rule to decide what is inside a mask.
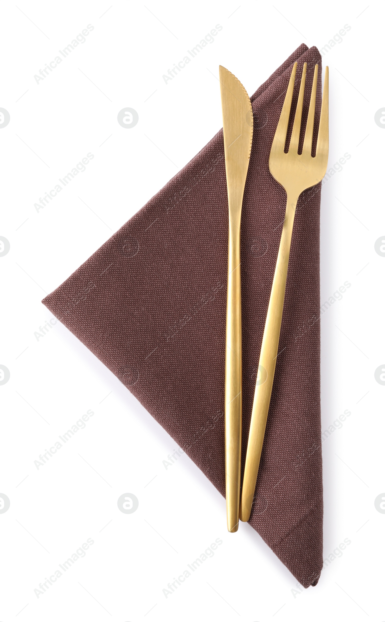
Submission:
[[[219,68],[229,204],[225,362],[227,528],[238,531],[241,486],[242,332],[240,229],[244,184],[253,141],[253,110],[239,80]]]

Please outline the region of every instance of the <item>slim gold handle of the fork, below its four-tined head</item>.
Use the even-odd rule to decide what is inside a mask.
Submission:
[[[261,460],[262,444],[266,429],[267,413],[271,398],[274,371],[281,332],[282,310],[289,266],[290,244],[294,224],[295,206],[294,200],[287,197],[284,226],[282,228],[281,243],[277,256],[276,271],[272,282],[269,307],[267,309],[266,323],[262,338],[261,355],[254,393],[253,411],[249,430],[248,450],[244,466],[241,508],[239,518],[248,521],[253,505],[254,491],[256,487],[259,461]]]

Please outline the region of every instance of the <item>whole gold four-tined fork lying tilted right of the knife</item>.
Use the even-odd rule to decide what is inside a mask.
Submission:
[[[274,371],[276,369],[279,333],[281,331],[282,310],[284,307],[287,267],[289,265],[295,208],[297,206],[299,195],[304,192],[306,188],[310,188],[322,180],[328,163],[328,67],[325,70],[320,127],[318,129],[317,151],[315,157],[312,157],[312,142],[318,65],[315,65],[314,68],[312,95],[310,97],[304,146],[302,147],[302,154],[299,155],[298,153],[302,104],[304,102],[306,63],[304,63],[304,69],[302,71],[302,80],[297,101],[297,109],[295,111],[289,152],[287,154],[284,153],[296,70],[297,63],[294,63],[276,134],[272,141],[269,158],[270,172],[274,179],[276,179],[277,182],[285,188],[287,203],[285,220],[282,228],[281,243],[279,244],[277,256],[276,271],[274,272],[269,307],[267,309],[266,323],[262,338],[261,355],[259,356],[257,383],[254,393],[253,411],[251,414],[251,424],[249,430],[248,450],[244,466],[241,508],[239,510],[239,518],[241,521],[248,521],[250,518],[251,506],[253,505],[254,491],[257,481],[259,460],[261,459],[267,413],[269,412],[271,389],[274,379]]]

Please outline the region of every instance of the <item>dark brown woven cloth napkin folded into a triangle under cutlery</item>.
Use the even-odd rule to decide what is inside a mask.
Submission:
[[[243,464],[285,213],[285,192],[269,172],[269,152],[295,60],[295,99],[307,62],[306,119],[313,67],[321,63],[315,47],[300,45],[251,97],[254,136],[241,223]],[[302,141],[303,134],[304,128]],[[323,564],[319,220],[320,185],[304,192],[297,205],[276,375],[249,521],[305,587],[316,585]],[[221,130],[43,300],[223,496],[227,243]]]

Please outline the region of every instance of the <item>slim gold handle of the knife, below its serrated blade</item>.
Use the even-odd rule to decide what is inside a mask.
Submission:
[[[238,220],[238,219],[237,219]],[[239,223],[230,220],[226,307],[225,460],[227,528],[238,531],[241,486],[242,330]]]

